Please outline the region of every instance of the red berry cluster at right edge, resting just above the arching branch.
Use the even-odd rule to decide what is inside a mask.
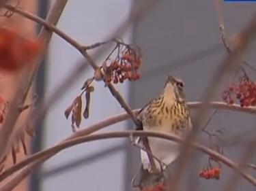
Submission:
[[[223,92],[223,101],[229,104],[237,99],[241,107],[256,105],[256,83],[247,76],[242,77],[239,84],[232,84]]]

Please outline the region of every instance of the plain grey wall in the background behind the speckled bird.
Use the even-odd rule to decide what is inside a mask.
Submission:
[[[141,1],[136,1],[139,3]],[[135,5],[136,5],[135,3]],[[225,3],[224,20],[227,33],[234,35],[240,31],[256,10],[255,3]],[[142,77],[130,86],[130,103],[132,107],[142,107],[162,90],[167,75],[175,75],[185,82],[188,101],[200,101],[212,73],[226,56],[221,44],[218,30],[218,17],[214,10],[214,1],[170,1],[159,3],[150,14],[139,24],[134,26],[133,41],[141,46],[143,52]],[[256,57],[253,54],[256,46],[251,48],[245,58],[248,63],[256,67]],[[245,67],[248,70],[248,68]],[[255,80],[255,73],[248,72]],[[228,82],[227,82],[228,83]],[[221,86],[219,95],[214,100],[221,100]],[[255,117],[231,111],[218,111],[209,124],[208,129],[225,128],[225,136],[246,132],[255,128]],[[244,147],[233,146],[225,148],[225,155],[234,161],[239,161]],[[128,146],[127,181],[138,167],[138,152]],[[207,157],[201,155],[200,162],[190,161],[195,167],[186,173],[182,188],[191,186],[188,182],[192,177],[198,181],[196,190],[221,190],[227,177],[233,171],[223,166],[221,179],[205,180],[198,177],[199,169],[207,164]],[[256,160],[252,160],[256,163]],[[189,171],[187,171],[189,172]],[[254,171],[251,171],[255,175]],[[255,190],[247,181],[240,181],[237,190]],[[127,182],[126,190],[130,190]]]

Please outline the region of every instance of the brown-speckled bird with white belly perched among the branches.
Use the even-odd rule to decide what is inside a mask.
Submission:
[[[186,136],[192,129],[192,122],[185,101],[184,82],[169,75],[163,91],[139,111],[137,120],[141,122],[141,127],[137,130]],[[174,141],[156,137],[147,137],[147,141],[157,171],[164,170],[180,155],[179,145]],[[139,137],[136,142],[143,145]],[[141,163],[144,170],[152,172],[150,159],[145,150],[141,150]]]

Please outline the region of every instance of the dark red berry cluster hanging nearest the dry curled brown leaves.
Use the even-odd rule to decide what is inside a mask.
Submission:
[[[127,45],[124,51],[117,52],[117,57],[111,60],[109,66],[103,67],[106,82],[117,84],[123,83],[124,80],[139,79],[138,70],[141,67],[141,54],[137,49]],[[106,60],[106,63],[108,61]]]

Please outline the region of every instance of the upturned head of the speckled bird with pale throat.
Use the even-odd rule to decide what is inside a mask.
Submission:
[[[177,77],[169,75],[165,82],[165,94],[173,97],[176,101],[184,101],[184,82]]]

